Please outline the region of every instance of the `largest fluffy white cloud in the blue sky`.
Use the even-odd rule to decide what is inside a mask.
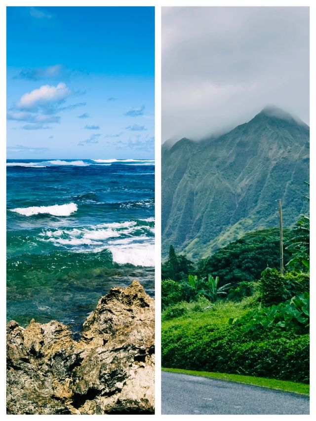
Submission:
[[[22,95],[16,107],[19,110],[35,110],[39,107],[49,108],[63,102],[71,93],[71,89],[62,82],[58,83],[57,86],[42,85],[40,88]]]

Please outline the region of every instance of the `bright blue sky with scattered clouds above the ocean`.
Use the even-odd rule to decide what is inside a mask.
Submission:
[[[154,158],[154,7],[7,7],[7,157]]]

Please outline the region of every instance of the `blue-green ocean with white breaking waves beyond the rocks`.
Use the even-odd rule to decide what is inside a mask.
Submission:
[[[155,162],[7,160],[7,319],[74,334],[102,295],[154,296]]]

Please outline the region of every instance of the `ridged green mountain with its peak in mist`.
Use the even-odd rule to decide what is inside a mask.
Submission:
[[[245,232],[308,212],[309,127],[266,107],[229,133],[162,146],[162,255],[170,244],[197,259]]]

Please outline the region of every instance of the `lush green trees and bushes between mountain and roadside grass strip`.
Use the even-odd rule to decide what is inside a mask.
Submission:
[[[298,245],[309,244],[309,230],[303,242],[297,227],[301,223],[286,231],[290,270],[284,275],[277,270],[276,230],[265,230],[162,280],[162,366],[254,382],[264,377],[266,384],[309,382],[309,273],[303,262],[309,249]],[[172,259],[189,262],[176,253]],[[169,260],[163,273],[170,276]]]

